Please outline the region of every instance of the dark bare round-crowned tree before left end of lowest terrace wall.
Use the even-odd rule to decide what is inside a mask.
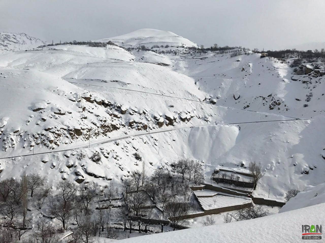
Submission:
[[[168,202],[165,205],[165,214],[173,224],[173,231],[176,226],[183,226],[188,224],[186,220],[184,220],[184,216],[187,215],[189,210],[187,203],[182,203],[178,201]]]

